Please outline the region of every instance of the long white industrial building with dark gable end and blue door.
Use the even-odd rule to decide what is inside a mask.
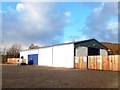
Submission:
[[[26,63],[74,68],[74,56],[107,55],[107,48],[95,39],[23,50]]]

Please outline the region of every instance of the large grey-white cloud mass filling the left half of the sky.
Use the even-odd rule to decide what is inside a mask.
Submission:
[[[20,43],[25,47],[31,43],[58,43],[54,39],[63,35],[66,18],[63,13],[56,14],[55,6],[56,3],[22,2],[16,5],[16,10],[8,10],[2,17],[3,44]],[[16,11],[21,13],[16,15]]]

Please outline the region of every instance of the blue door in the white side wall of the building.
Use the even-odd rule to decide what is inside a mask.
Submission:
[[[33,64],[38,65],[38,54],[30,54],[30,55],[28,55],[28,64],[30,64],[30,65],[33,65]]]

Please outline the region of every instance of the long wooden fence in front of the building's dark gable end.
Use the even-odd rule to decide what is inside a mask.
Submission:
[[[120,71],[120,55],[75,57],[75,68]]]

